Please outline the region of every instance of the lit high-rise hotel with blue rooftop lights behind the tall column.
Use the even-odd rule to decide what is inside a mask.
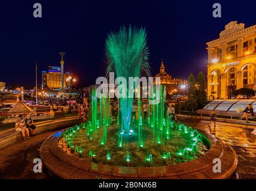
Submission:
[[[66,88],[65,79],[71,75],[69,72],[64,73],[63,87]],[[48,72],[42,71],[42,89],[60,90],[62,87],[61,67],[48,66]]]

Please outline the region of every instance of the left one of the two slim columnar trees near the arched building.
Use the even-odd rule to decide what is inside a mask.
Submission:
[[[194,111],[197,109],[197,93],[196,93],[196,79],[193,73],[188,76],[188,109]]]

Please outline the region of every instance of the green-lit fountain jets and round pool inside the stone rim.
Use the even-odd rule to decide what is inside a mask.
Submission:
[[[116,77],[141,76],[149,73],[148,48],[144,29],[126,29],[111,33],[106,40],[107,72]],[[135,86],[134,86],[135,87]],[[134,88],[133,87],[133,88]],[[124,167],[148,167],[178,164],[199,158],[209,149],[202,134],[166,116],[165,87],[151,98],[98,97],[96,88],[91,95],[90,120],[75,125],[59,138],[59,146],[71,154],[100,164]],[[156,91],[160,91],[159,94]],[[120,94],[124,94],[120,89]],[[128,91],[126,92],[128,94]],[[132,104],[138,107],[132,117]],[[148,104],[145,118],[142,105]],[[111,116],[111,107],[117,107],[117,116]]]

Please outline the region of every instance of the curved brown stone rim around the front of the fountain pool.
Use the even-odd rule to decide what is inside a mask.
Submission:
[[[237,155],[224,141],[205,134],[211,143],[202,157],[176,165],[163,167],[118,167],[96,164],[68,155],[57,146],[58,137],[52,135],[41,146],[40,156],[45,170],[53,177],[72,179],[94,178],[164,178],[164,179],[216,179],[229,178],[237,167]],[[221,159],[221,172],[214,172],[214,159]]]

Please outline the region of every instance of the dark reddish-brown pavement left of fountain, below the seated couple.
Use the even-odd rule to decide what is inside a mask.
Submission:
[[[50,178],[44,172],[33,172],[33,160],[39,158],[39,148],[44,140],[59,130],[37,134],[25,141],[19,141],[0,149],[0,179],[3,178]]]

